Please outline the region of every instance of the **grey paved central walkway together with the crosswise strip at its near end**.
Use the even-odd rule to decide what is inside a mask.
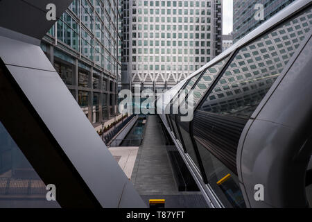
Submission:
[[[146,205],[149,199],[164,198],[165,207],[207,207],[200,192],[180,192],[173,177],[162,126],[156,115],[149,115],[144,140],[139,146],[131,181]]]

